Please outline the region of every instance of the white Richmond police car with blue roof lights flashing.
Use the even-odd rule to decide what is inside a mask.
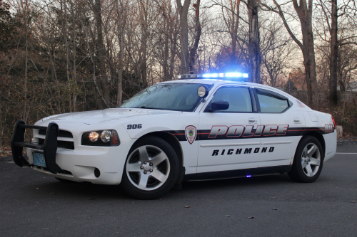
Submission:
[[[241,73],[178,75],[121,107],[16,122],[14,162],[155,199],[197,179],[287,172],[312,182],[336,153],[333,117]],[[31,143],[24,130],[34,129]],[[29,162],[22,157],[27,147]]]

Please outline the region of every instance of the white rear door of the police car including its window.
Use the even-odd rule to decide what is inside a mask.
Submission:
[[[286,96],[255,88],[261,118],[261,162],[259,167],[289,165],[305,127],[303,113]]]

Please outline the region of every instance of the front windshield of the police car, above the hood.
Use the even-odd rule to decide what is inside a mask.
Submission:
[[[197,89],[201,84],[166,83],[153,85],[133,98],[124,102],[120,107],[147,108],[156,110],[176,110],[192,112],[201,101]],[[211,85],[206,85],[211,88]]]

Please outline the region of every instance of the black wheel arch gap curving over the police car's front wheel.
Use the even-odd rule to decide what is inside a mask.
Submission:
[[[161,139],[164,139],[174,149],[174,151],[177,155],[177,158],[178,158],[178,164],[180,166],[176,184],[181,184],[183,176],[185,174],[185,167],[183,167],[183,151],[182,151],[182,147],[181,147],[181,144],[178,141],[178,139],[174,135],[171,135],[169,132],[149,132],[146,135],[139,137],[139,139],[137,139],[136,142],[138,142],[140,139],[142,139],[144,137],[148,137],[148,136],[154,136],[154,137],[159,137]],[[136,142],[134,142],[134,144],[136,144]],[[134,144],[133,144],[133,146],[134,146]]]

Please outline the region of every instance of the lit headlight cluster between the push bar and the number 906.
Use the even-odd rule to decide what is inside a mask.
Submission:
[[[111,147],[119,146],[120,140],[116,130],[101,130],[84,132],[81,144],[84,146]]]

